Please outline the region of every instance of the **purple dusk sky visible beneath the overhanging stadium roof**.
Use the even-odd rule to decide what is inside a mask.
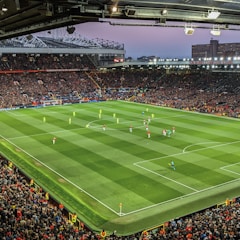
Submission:
[[[211,39],[220,44],[240,42],[240,30],[221,30],[220,36],[213,36],[210,29],[196,28],[193,35],[185,35],[183,27],[119,26],[107,22],[81,23],[75,28],[74,35],[124,44],[125,57],[133,59],[141,56],[191,58],[192,45],[209,44]],[[56,31],[66,34],[66,28]]]

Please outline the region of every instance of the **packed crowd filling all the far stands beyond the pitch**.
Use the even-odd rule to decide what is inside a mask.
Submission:
[[[0,62],[0,108],[49,99],[62,103],[123,99],[238,117],[237,72],[97,71],[85,55],[6,54]],[[46,71],[47,70],[47,71]]]

